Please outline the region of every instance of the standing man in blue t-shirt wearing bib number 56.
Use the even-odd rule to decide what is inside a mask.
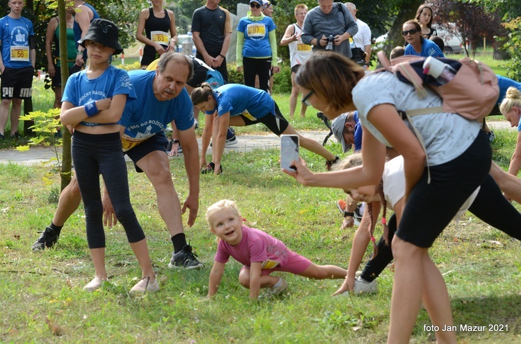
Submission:
[[[11,138],[17,139],[22,99],[31,98],[36,61],[33,23],[22,17],[24,0],[9,0],[10,12],[0,19],[0,139],[4,138],[11,108]]]

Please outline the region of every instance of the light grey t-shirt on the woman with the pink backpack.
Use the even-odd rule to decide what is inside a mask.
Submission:
[[[383,71],[362,78],[352,94],[362,126],[382,144],[390,147],[386,138],[367,121],[367,113],[372,107],[380,104],[392,104],[397,110],[403,111],[441,106],[442,98],[428,86],[425,89],[427,97],[420,99],[412,85],[402,83],[395,74]],[[397,119],[401,120],[399,117],[393,118]],[[458,114],[447,112],[424,114],[411,117],[411,120],[423,137],[431,166],[444,164],[461,155],[481,130],[481,123],[478,121],[470,121]],[[408,121],[406,124],[411,128]]]

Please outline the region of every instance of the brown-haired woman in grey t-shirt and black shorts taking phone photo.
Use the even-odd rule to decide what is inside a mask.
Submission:
[[[362,165],[312,173],[300,160],[294,162],[297,171],[285,172],[304,185],[350,190],[380,182],[386,147],[403,156],[404,210],[391,246],[396,269],[388,343],[408,343],[422,304],[433,325],[449,329],[454,325],[447,286],[429,248],[465,200],[481,187],[483,198],[474,200],[470,210],[517,238],[521,230],[511,224],[518,223],[520,214],[504,202],[488,174],[492,150],[481,123],[451,112],[416,116],[410,123],[399,110],[439,106],[442,98],[426,89],[427,96],[420,99],[413,85],[387,71],[364,74],[352,60],[324,52],[313,54],[295,77],[311,105],[329,119],[358,110],[363,126]],[[436,340],[456,343],[456,332],[436,332]]]

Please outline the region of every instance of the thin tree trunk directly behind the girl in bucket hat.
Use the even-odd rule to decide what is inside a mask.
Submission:
[[[65,16],[65,0],[58,0],[58,22],[67,23]],[[62,65],[62,85],[65,89],[67,78],[69,78],[69,66],[67,62],[67,25],[61,25],[60,28],[60,65]],[[67,67],[65,67],[67,66]],[[71,156],[71,133],[69,129],[62,127],[62,168],[61,168],[61,189],[65,189],[72,178],[72,156]]]

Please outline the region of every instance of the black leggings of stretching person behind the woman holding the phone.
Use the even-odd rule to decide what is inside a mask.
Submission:
[[[508,200],[504,198],[491,175],[481,184],[479,193],[469,208],[469,211],[482,221],[497,228],[498,230],[521,240],[521,214]],[[396,232],[396,216],[392,214],[388,222],[389,243]],[[361,277],[367,282],[377,278],[384,268],[392,261],[392,251],[387,246],[383,237],[377,243],[378,255],[367,261]]]

